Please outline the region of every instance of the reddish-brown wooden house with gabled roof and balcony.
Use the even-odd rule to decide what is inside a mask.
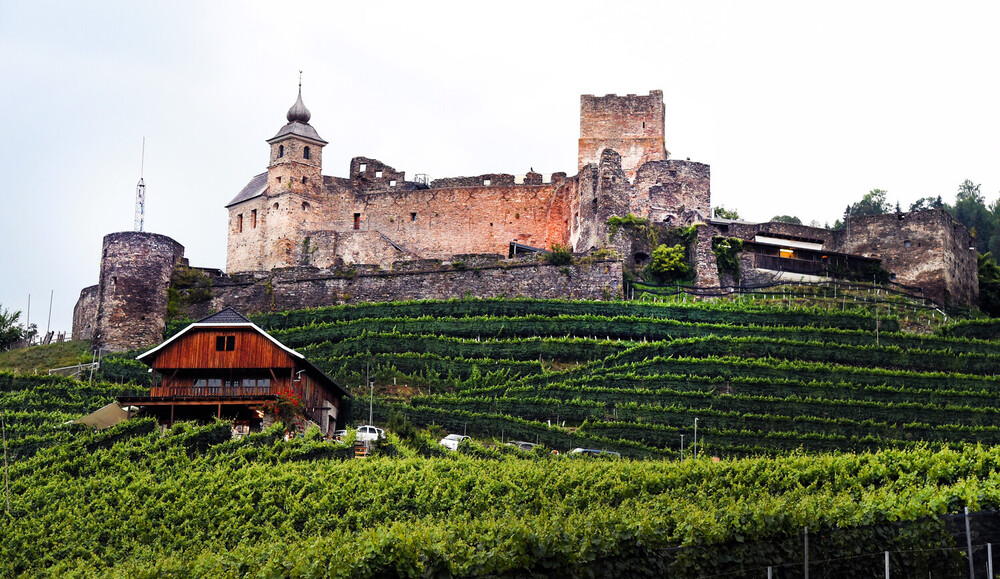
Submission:
[[[155,385],[149,396],[118,402],[164,424],[217,417],[256,430],[264,409],[290,393],[324,433],[342,428],[346,419],[346,390],[232,308],[189,325],[138,360],[156,372]]]

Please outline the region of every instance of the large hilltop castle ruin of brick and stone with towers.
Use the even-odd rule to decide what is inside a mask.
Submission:
[[[355,157],[346,177],[333,177],[322,173],[327,141],[310,124],[300,86],[287,123],[267,140],[267,170],[226,205],[225,273],[201,270],[212,295],[187,313],[462,296],[618,299],[623,261],[637,256],[628,242],[609,239],[608,220],[630,214],[699,225],[693,257],[702,287],[734,283],[719,275],[711,244],[737,237],[747,277],[868,260],[938,303],[975,304],[971,237],[946,213],[859,218],[838,231],[711,219],[710,168],[669,158],[664,118],[661,91],[583,95],[574,176],[408,180],[377,159]],[[530,253],[514,256],[557,246],[577,254],[613,248],[618,259],[553,267]],[[74,338],[119,350],[158,341],[178,264],[186,265],[183,247],[164,236],[107,236],[100,282],[81,292],[74,311]]]

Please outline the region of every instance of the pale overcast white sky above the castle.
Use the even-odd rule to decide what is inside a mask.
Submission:
[[[353,156],[432,178],[576,173],[579,96],[662,89],[667,148],[713,205],[835,221],[1000,191],[994,2],[0,0],[0,304],[69,330],[102,237],[146,230],[225,267],[223,206],[295,100]],[[22,315],[23,320],[23,315]]]

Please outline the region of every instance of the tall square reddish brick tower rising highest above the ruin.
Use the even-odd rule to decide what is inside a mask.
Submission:
[[[599,164],[601,153],[621,155],[622,170],[635,179],[639,167],[669,156],[664,144],[663,91],[648,96],[605,95],[580,97],[579,168]]]

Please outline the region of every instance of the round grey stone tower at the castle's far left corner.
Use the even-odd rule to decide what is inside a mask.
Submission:
[[[184,246],[165,235],[124,231],[104,236],[94,347],[142,348],[163,340],[167,288]]]

